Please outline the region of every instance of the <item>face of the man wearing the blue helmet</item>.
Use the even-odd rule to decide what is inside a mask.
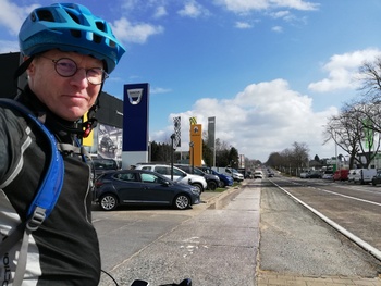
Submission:
[[[70,77],[59,75],[52,60],[73,60],[78,70]],[[36,57],[27,70],[30,89],[53,113],[67,121],[81,119],[95,103],[101,85],[90,84],[86,70],[103,67],[100,60],[76,52],[50,50]]]

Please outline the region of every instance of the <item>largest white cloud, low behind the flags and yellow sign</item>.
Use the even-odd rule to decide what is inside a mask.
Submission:
[[[284,79],[251,84],[232,99],[202,98],[193,110],[171,114],[167,133],[173,132],[172,120],[182,116],[182,150],[188,149],[189,117],[196,116],[208,127],[208,117],[216,116],[216,137],[238,149],[249,159],[266,161],[271,152],[292,148],[292,144],[306,142],[310,157],[334,156],[332,145],[322,146],[323,125],[336,108],[312,111],[312,99],[290,89]],[[159,140],[159,134],[152,135]],[[163,138],[160,138],[163,139]],[[161,140],[163,141],[163,140]]]

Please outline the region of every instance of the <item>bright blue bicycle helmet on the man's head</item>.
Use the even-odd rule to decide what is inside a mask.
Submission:
[[[35,9],[20,29],[19,45],[28,57],[51,49],[91,55],[105,61],[107,73],[114,70],[125,52],[106,21],[75,3]]]

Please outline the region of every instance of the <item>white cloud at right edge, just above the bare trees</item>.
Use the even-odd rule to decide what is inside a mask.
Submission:
[[[318,92],[328,92],[339,89],[355,89],[358,87],[358,69],[365,61],[373,61],[381,55],[379,49],[366,49],[344,54],[335,54],[330,61],[323,64],[322,70],[328,72],[328,77],[311,83],[308,88]]]

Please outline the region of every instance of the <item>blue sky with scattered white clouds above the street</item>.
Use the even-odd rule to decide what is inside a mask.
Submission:
[[[17,33],[48,0],[0,0],[0,53],[19,51]],[[67,1],[66,1],[67,2]],[[103,91],[148,83],[149,140],[170,142],[189,117],[250,160],[306,144],[331,158],[328,119],[360,97],[358,69],[381,57],[379,0],[77,0],[108,21],[126,52]],[[341,153],[341,150],[339,150]],[[342,153],[345,156],[345,153]]]

